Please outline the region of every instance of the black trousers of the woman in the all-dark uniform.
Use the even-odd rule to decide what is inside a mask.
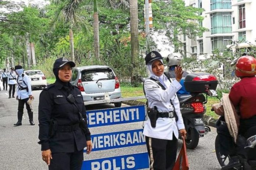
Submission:
[[[81,170],[83,149],[72,153],[51,153],[49,170]]]

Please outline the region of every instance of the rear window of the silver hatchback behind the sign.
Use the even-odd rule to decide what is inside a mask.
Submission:
[[[82,81],[97,81],[99,79],[115,79],[115,76],[111,69],[95,69],[82,71]]]

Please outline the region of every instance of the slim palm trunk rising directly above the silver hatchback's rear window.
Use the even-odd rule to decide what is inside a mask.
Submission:
[[[94,32],[94,52],[95,57],[100,59],[100,37],[99,37],[99,16],[97,10],[96,0],[93,1],[94,13],[93,13],[93,32]]]

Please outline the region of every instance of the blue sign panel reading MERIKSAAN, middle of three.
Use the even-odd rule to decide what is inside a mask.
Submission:
[[[101,151],[106,149],[131,147],[146,144],[145,137],[142,134],[143,129],[127,130],[121,132],[111,132],[94,134],[92,138],[92,150]],[[86,152],[86,149],[84,149]]]

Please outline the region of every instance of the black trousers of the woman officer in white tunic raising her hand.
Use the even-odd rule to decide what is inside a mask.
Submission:
[[[178,148],[178,140],[157,139],[146,136],[150,170],[173,170]]]

